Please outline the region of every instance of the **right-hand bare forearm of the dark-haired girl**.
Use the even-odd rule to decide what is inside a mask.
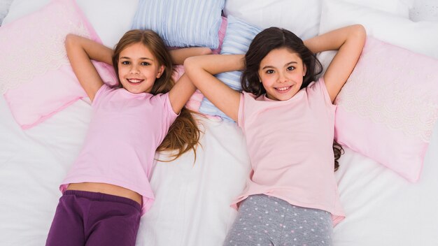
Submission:
[[[365,28],[360,24],[355,24],[310,38],[304,41],[304,45],[313,53],[326,50],[339,50],[348,40],[364,38],[364,36],[366,36]]]

